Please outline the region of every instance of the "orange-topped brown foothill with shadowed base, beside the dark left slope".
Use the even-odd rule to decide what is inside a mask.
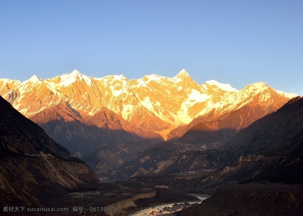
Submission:
[[[92,152],[102,145],[100,129],[81,117],[81,114],[59,103],[30,119],[40,125],[55,142],[77,156]]]

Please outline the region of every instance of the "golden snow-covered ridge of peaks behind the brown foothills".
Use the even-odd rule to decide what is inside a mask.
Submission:
[[[171,129],[199,116],[213,112],[215,118],[253,101],[265,103],[267,109],[275,100],[284,104],[296,96],[265,83],[254,83],[242,90],[215,80],[199,85],[186,70],[172,78],[152,74],[137,80],[123,75],[93,78],[74,70],[45,80],[33,76],[22,83],[0,79],[0,87],[2,97],[27,117],[58,103],[68,104],[83,116],[93,116],[105,106],[126,121],[164,137]]]

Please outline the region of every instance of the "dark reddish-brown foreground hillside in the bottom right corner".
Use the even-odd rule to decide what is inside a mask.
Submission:
[[[221,188],[200,205],[175,215],[302,215],[302,206],[302,185],[250,183]]]

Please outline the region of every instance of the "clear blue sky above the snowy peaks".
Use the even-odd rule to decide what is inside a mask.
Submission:
[[[182,69],[303,95],[303,1],[0,1],[0,78]]]

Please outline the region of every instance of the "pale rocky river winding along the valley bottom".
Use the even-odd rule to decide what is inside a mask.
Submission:
[[[198,197],[200,199],[200,201],[187,201],[190,204],[194,204],[194,203],[201,203],[203,200],[209,198],[209,195],[199,195],[199,194],[191,194],[195,197]],[[177,209],[176,211],[165,211],[163,210],[163,208],[165,207],[172,207],[175,203],[177,204],[184,204],[184,202],[174,202],[174,203],[167,203],[164,205],[157,205],[157,206],[153,206],[153,207],[149,207],[149,208],[144,208],[141,210],[136,211],[135,213],[129,214],[128,216],[148,216],[148,215],[158,215],[161,216],[162,214],[168,214],[168,213],[172,213],[172,212],[176,212],[176,211],[180,211],[180,209]]]

